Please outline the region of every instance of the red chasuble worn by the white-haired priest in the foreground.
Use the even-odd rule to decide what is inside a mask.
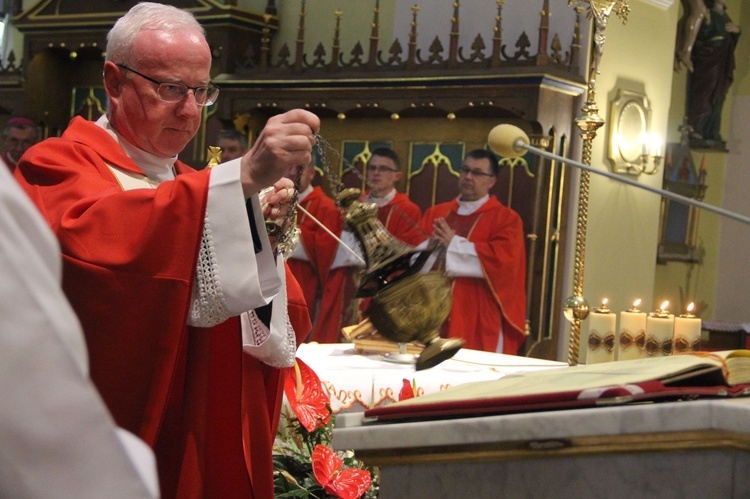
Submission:
[[[123,191],[108,165],[144,175],[75,118],[16,171],[60,241],[91,377],[117,423],[154,448],[164,497],[271,498],[278,371],[243,353],[238,318],[187,326],[210,171],[178,161],[174,181]]]

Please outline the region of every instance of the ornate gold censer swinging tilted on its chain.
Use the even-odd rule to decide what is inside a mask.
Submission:
[[[460,338],[441,338],[440,326],[451,309],[451,282],[442,272],[420,272],[434,247],[418,250],[394,238],[378,220],[378,207],[361,203],[359,189],[338,195],[346,222],[365,253],[366,270],[358,298],[371,298],[366,312],[375,330],[400,344],[425,345],[416,369],[428,369],[451,358],[463,346]]]

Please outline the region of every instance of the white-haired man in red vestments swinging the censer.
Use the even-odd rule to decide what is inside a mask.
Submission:
[[[140,3],[106,53],[107,115],[29,149],[16,179],[60,242],[91,378],[153,447],[162,496],[271,498],[277,368],[294,362],[291,321],[309,322],[264,219],[285,220],[282,176],[310,162],[320,122],[277,115],[242,158],[196,172],[177,154],[218,96],[200,24]]]

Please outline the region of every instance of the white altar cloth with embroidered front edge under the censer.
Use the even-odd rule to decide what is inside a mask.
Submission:
[[[413,365],[387,362],[382,354],[357,353],[351,343],[303,343],[297,357],[328,390],[334,414],[364,411],[398,400],[406,379],[426,395],[472,381],[498,379],[520,371],[564,367],[563,362],[461,349],[441,364],[417,372]]]

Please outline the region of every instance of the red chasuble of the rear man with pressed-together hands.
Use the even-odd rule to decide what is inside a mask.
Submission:
[[[517,354],[525,339],[526,250],[518,214],[497,198],[471,215],[457,215],[458,201],[425,212],[422,229],[432,234],[436,218],[445,217],[460,236],[474,243],[484,279],[455,277],[448,336],[466,340],[466,348],[494,352],[500,326],[503,353]]]

